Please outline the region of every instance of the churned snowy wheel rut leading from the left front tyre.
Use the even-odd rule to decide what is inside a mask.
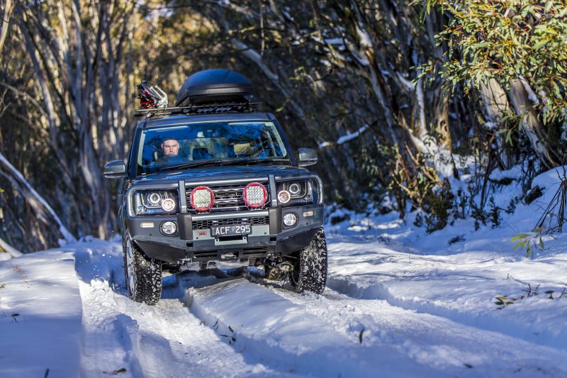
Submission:
[[[203,326],[184,306],[175,276],[164,279],[164,297],[157,306],[128,299],[125,288],[112,282],[113,277],[123,280],[120,255],[108,250],[76,254],[83,306],[82,377],[107,377],[122,368],[126,371],[120,377],[282,375],[245,362]]]

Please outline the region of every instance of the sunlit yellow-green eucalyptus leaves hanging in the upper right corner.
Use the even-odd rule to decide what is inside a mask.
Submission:
[[[431,6],[449,16],[437,35],[448,46],[440,74],[449,89],[464,84],[469,90],[490,78],[507,86],[521,78],[541,101],[544,121],[565,117],[566,1],[427,0]]]

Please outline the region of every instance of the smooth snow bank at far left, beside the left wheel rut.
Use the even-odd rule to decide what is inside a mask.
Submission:
[[[77,377],[81,296],[71,253],[0,262],[0,376]]]

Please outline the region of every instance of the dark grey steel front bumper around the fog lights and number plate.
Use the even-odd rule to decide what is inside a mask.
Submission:
[[[283,225],[282,219],[286,213],[298,216],[295,226],[288,228]],[[228,238],[210,235],[208,225],[211,222],[228,220],[251,223],[252,233]],[[178,233],[164,235],[159,227],[165,221],[175,222]],[[289,255],[305,248],[316,230],[322,227],[322,223],[323,205],[312,204],[204,215],[179,213],[176,216],[135,216],[126,219],[126,228],[130,238],[145,255],[177,264],[186,261],[242,260],[268,255]]]

